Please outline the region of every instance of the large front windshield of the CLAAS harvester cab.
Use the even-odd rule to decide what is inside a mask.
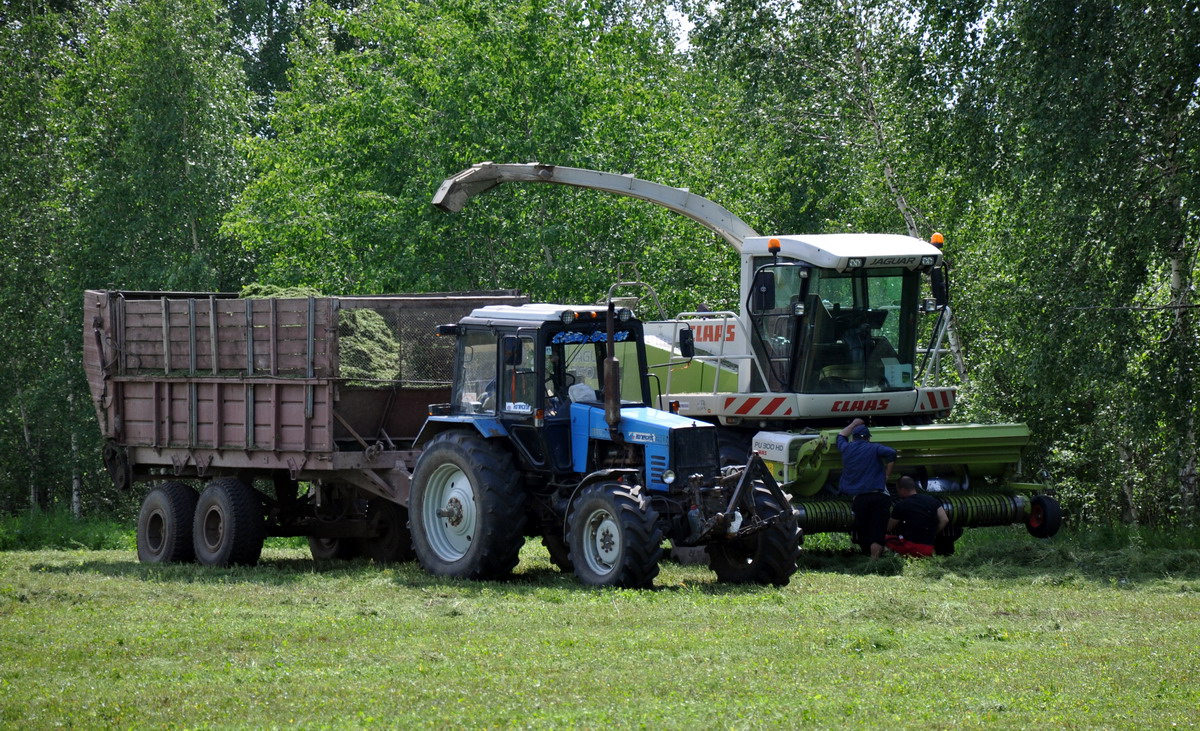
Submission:
[[[796,390],[860,394],[913,388],[919,274],[814,269]]]

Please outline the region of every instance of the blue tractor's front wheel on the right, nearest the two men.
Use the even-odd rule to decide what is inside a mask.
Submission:
[[[755,487],[755,510],[760,516],[779,515],[767,528],[746,538],[707,546],[708,568],[726,583],[769,583],[787,586],[800,555],[800,529],[796,510],[780,505],[766,487]]]

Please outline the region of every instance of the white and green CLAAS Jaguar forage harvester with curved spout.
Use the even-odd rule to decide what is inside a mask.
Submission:
[[[941,384],[950,305],[940,234],[763,236],[724,206],[683,188],[563,166],[480,163],[448,178],[433,198],[456,212],[503,182],[551,182],[628,196],[686,216],[739,256],[738,312],[690,312],[647,322],[656,402],[718,427],[722,462],[757,455],[796,496],[804,533],[850,531],[836,496],[839,429],[856,417],[899,451],[894,477],[936,493],[950,516],[942,552],[966,527],[1024,523],[1054,535],[1062,520],[1044,485],[1019,480],[1030,439],[1022,424],[935,424],[958,389]],[[623,282],[643,286],[641,282]],[[644,287],[644,286],[643,286]],[[925,295],[930,296],[925,296]],[[656,304],[656,298],[653,298]],[[918,325],[936,317],[928,344]],[[696,354],[679,349],[680,325]],[[934,365],[930,365],[934,364]]]

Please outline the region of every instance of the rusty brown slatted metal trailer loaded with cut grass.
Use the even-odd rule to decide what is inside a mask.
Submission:
[[[413,441],[428,405],[450,394],[454,344],[439,342],[436,326],[481,305],[526,301],[514,290],[281,299],[86,292],[84,366],[106,467],[119,485],[166,481],[168,493],[184,495],[160,499],[157,517],[139,517],[143,559],[154,561],[156,547],[163,559],[187,553],[172,544],[179,535],[158,535],[162,545],[144,552],[142,533],[154,544],[168,523],[184,532],[188,480],[270,485],[241,495],[263,501],[263,534],[308,535],[314,553],[346,555],[352,539],[372,553],[382,533],[407,531],[396,508],[407,505]],[[301,483],[310,485],[304,495]],[[217,543],[216,532],[235,527],[223,517],[210,526]],[[241,562],[253,559],[257,552]]]

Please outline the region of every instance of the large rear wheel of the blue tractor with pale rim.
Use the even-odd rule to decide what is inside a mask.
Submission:
[[[524,545],[524,492],[512,456],[476,433],[438,435],[413,473],[409,528],[421,568],[498,579]]]

